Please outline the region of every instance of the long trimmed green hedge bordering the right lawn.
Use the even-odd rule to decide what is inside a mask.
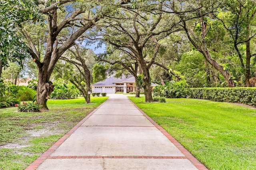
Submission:
[[[256,106],[256,88],[254,87],[190,88],[188,95],[193,99],[206,99]]]

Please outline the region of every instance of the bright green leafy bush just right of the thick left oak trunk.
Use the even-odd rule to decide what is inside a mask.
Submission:
[[[52,99],[76,99],[80,91],[70,82],[65,83],[63,79],[54,81],[54,91],[51,94]]]

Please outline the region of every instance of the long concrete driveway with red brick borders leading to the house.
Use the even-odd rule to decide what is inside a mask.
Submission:
[[[206,170],[126,95],[109,99],[27,170]]]

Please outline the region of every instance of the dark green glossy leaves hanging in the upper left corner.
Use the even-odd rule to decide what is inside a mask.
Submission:
[[[0,6],[0,60],[6,66],[8,59],[21,61],[28,55],[18,30],[22,23],[39,21],[41,16],[35,0],[1,0]]]

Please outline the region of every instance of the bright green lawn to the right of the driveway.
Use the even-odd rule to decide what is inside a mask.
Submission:
[[[256,109],[198,99],[129,98],[211,170],[256,169]]]

